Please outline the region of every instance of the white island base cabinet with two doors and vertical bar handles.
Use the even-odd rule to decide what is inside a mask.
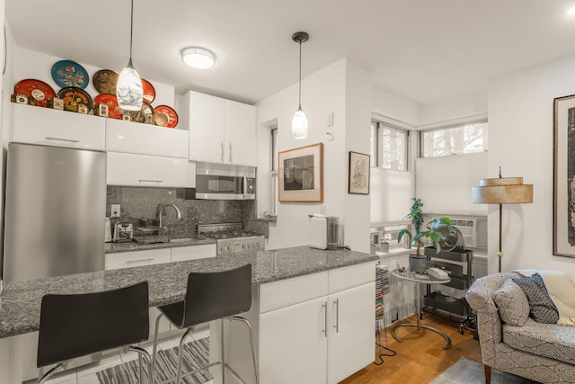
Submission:
[[[375,294],[374,263],[262,284],[261,383],[332,384],[373,362]]]

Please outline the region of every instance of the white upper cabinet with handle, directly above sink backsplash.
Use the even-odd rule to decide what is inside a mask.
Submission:
[[[108,185],[193,187],[195,163],[188,159],[108,152]]]

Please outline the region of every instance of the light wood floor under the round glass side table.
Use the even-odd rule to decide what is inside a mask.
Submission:
[[[413,315],[402,322],[415,323],[416,317]],[[443,337],[415,326],[397,329],[396,334],[403,339],[403,343],[399,343],[391,335],[391,326],[388,326],[387,344],[397,352],[395,356],[384,356],[382,365],[370,364],[340,384],[425,384],[462,356],[482,362],[479,342],[473,339],[471,331],[465,330],[464,335],[461,335],[458,323],[428,313],[425,313],[421,324],[434,326],[446,333],[451,338],[451,347],[444,351],[442,347],[446,340]],[[383,331],[381,341],[385,345]],[[379,362],[379,359],[376,361]]]

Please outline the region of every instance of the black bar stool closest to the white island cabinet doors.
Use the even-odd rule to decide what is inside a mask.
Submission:
[[[238,379],[237,373],[229,367],[224,359],[224,322],[223,319],[241,321],[248,327],[250,334],[250,344],[252,347],[253,370],[255,371],[255,380],[260,382],[258,376],[258,365],[255,352],[253,349],[253,334],[250,322],[244,318],[236,316],[239,313],[246,312],[252,307],[252,264],[246,264],[241,267],[222,271],[222,272],[190,272],[188,275],[188,285],[186,295],[183,301],[168,304],[160,309],[160,315],[155,320],[154,352],[152,353],[152,371],[155,373],[155,360],[157,355],[158,344],[158,327],[160,319],[166,317],[173,326],[178,329],[186,328],[186,332],[181,336],[180,347],[178,350],[178,367],[177,377],[164,382],[176,380],[181,382],[183,376],[187,376],[198,371],[204,371],[208,368],[221,364],[222,380],[226,382],[226,368],[230,370]],[[185,339],[190,333],[193,333],[195,326],[212,320],[220,320],[222,333],[222,351],[221,362],[212,362],[203,367],[198,367],[194,371],[181,373],[181,351]]]

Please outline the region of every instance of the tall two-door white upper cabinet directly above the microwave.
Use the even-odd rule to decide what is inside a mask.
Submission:
[[[190,129],[190,160],[255,165],[255,107],[190,91],[181,123]]]

